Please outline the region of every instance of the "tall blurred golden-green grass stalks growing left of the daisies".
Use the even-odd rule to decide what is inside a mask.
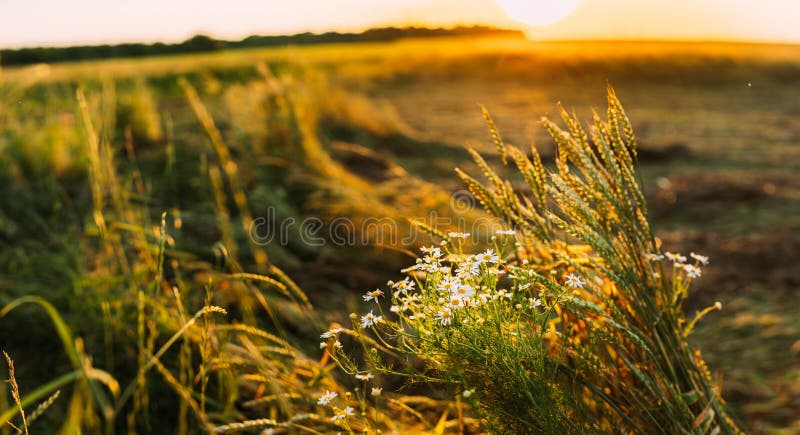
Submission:
[[[345,388],[332,376],[327,358],[308,356],[318,350],[307,348],[303,340],[304,334],[316,335],[321,328],[319,314],[288,274],[272,263],[273,254],[284,260],[291,254],[280,246],[267,253],[248,237],[254,216],[252,191],[256,183],[264,183],[262,195],[256,196],[278,206],[283,216],[302,215],[304,210],[335,217],[344,209],[360,219],[375,210],[389,213],[378,199],[381,193],[364,200],[372,186],[332,159],[323,137],[326,122],[371,118],[353,109],[344,119],[337,117],[332,103],[323,109],[318,103],[335,92],[327,92],[317,79],[273,77],[263,68],[261,74],[263,82],[251,83],[249,91],[254,104],[265,104],[268,110],[260,112],[263,118],[237,122],[250,129],[251,124],[263,128],[264,121],[270,129],[261,137],[263,142],[245,146],[231,130],[221,129],[203,101],[214,94],[197,91],[203,83],[180,82],[186,102],[181,114],[192,118],[177,120],[159,113],[152,90],[142,82],[91,83],[74,94],[77,104],[59,100],[77,109],[57,135],[75,150],[63,166],[85,171],[85,178],[45,177],[47,168],[15,174],[13,166],[4,167],[2,174],[9,175],[12,188],[39,194],[36,184],[26,184],[38,176],[56,186],[54,195],[69,197],[71,192],[64,191],[72,189],[85,194],[85,200],[75,201],[89,211],[77,218],[79,229],[73,230],[79,235],[73,242],[80,264],[72,272],[75,282],[63,281],[51,289],[47,299],[52,303],[38,296],[9,298],[0,313],[16,315],[14,320],[22,324],[21,316],[32,312],[29,306],[42,308],[55,326],[53,336],[61,342],[71,370],[56,371],[52,381],[21,391],[18,406],[0,410],[0,425],[20,426],[23,411],[37,415],[31,413],[37,401],[52,403],[55,399],[48,396],[64,391],[69,395],[66,403],[62,399],[45,414],[62,433],[335,427],[317,414],[315,397]],[[44,89],[63,91],[57,86]],[[339,96],[336,101],[347,100]],[[33,130],[22,113],[6,115],[20,141],[7,144],[9,136],[4,135],[2,146],[31,154],[34,164],[32,155],[47,148],[37,136],[22,140],[26,130]],[[215,115],[223,118],[222,124],[228,121]],[[173,121],[181,128],[191,124],[205,138],[191,143],[175,138]],[[194,159],[198,154],[200,162]],[[248,156],[263,159],[259,163],[266,162],[274,171],[254,179],[254,162]],[[9,162],[25,163],[22,158]],[[168,195],[189,191],[189,185],[190,199],[197,203],[181,213],[170,204],[184,198]],[[286,188],[303,194],[288,200],[275,194]],[[316,192],[316,198],[309,199],[307,192]],[[446,203],[446,195],[441,197]],[[205,204],[210,204],[211,219],[202,215]],[[65,217],[45,216],[45,222]],[[198,240],[184,233],[203,228],[204,219],[213,222],[208,235]],[[207,243],[208,252],[214,246],[216,264],[196,243]],[[47,371],[48,376],[54,373]]]

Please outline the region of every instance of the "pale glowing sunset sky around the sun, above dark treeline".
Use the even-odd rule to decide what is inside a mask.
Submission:
[[[517,27],[534,39],[800,43],[798,23],[800,0],[581,0],[566,18],[539,27],[513,21],[495,0],[0,0],[0,47],[176,42],[197,33],[240,39],[412,24]]]

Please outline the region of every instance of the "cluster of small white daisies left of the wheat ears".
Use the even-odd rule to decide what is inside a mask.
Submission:
[[[452,233],[447,243],[421,248],[415,263],[403,270],[405,277],[387,282],[386,288],[365,293],[362,299],[369,311],[351,314],[351,319],[354,334],[362,345],[371,347],[365,349],[364,356],[369,372],[339,346],[330,345],[331,340],[338,343],[340,328],[322,334],[328,340],[327,351],[356,380],[367,383],[373,378],[372,371],[397,374],[386,369],[390,365],[381,361],[376,347],[393,354],[430,357],[441,353],[443,344],[456,345],[460,340],[456,336],[479,336],[481,331],[496,331],[498,326],[505,329],[509,325],[517,325],[517,329],[509,330],[509,341],[503,346],[522,345],[517,342],[518,335],[541,343],[555,307],[567,298],[580,297],[582,291],[590,289],[592,281],[584,271],[564,266],[552,274],[548,270],[547,276],[540,274],[537,279],[548,282],[543,285],[534,279],[537,272],[533,264],[511,255],[518,252],[516,239],[511,237],[515,234],[501,230],[498,235],[504,237],[493,237],[491,246],[466,253],[460,241],[470,235]],[[524,326],[519,326],[521,322]],[[537,350],[544,349],[540,345],[529,346],[532,351],[544,351]],[[473,390],[467,385],[462,388],[465,398],[472,395]],[[362,400],[367,395],[377,400],[382,391],[380,387],[364,385],[356,393],[363,396]],[[332,398],[323,396],[320,400],[329,403]],[[337,408],[332,420],[346,422],[349,415],[346,407]]]

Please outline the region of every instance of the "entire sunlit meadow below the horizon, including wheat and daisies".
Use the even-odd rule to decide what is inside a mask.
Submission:
[[[797,433],[796,48],[4,68],[0,434]]]

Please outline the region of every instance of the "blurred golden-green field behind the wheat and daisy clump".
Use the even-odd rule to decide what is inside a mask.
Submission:
[[[558,117],[560,102],[590,120],[592,110],[604,112],[611,85],[639,139],[655,235],[664,250],[711,258],[684,309],[692,318],[720,301],[722,310],[698,323],[691,343],[747,432],[798,433],[798,53],[781,45],[453,38],[2,70],[0,306],[41,296],[71,332],[62,341],[41,310],[24,305],[0,318],[0,348],[14,360],[22,396],[78,370],[70,355],[124,389],[167,339],[182,335],[191,313],[213,304],[228,310],[230,324],[289,340],[313,366],[323,354],[319,333],[349,324],[363,292],[396,280],[413,262],[409,251],[429,243],[400,242],[413,233],[407,218],[485,216],[452,199],[472,204],[454,172],[478,171],[465,146],[512,176],[492,157],[480,105],[507,143],[534,143],[550,160],[540,118]],[[323,237],[343,218],[359,229],[359,243]],[[295,225],[285,243],[261,243],[252,226],[259,219]],[[370,219],[393,222],[396,234],[381,237],[382,223],[370,227]],[[247,281],[241,272],[273,278]],[[262,394],[247,384],[225,387],[234,375],[207,364],[208,315],[191,336],[196,347],[170,348],[163,365],[136,378],[134,385],[151,384],[132,393],[127,417],[111,424],[118,431],[191,432],[199,423],[187,415],[206,405],[215,424],[292,414],[292,403],[243,406]],[[226,361],[237,375],[252,375],[234,361],[243,355],[262,376],[280,372],[264,356],[269,343],[228,333]],[[209,388],[219,391],[206,404],[211,371]],[[100,431],[102,412],[86,411],[92,389],[64,388],[39,424]],[[175,404],[176,394],[190,399]],[[0,411],[13,406],[0,396]],[[420,411],[434,432],[442,409],[450,408]]]

